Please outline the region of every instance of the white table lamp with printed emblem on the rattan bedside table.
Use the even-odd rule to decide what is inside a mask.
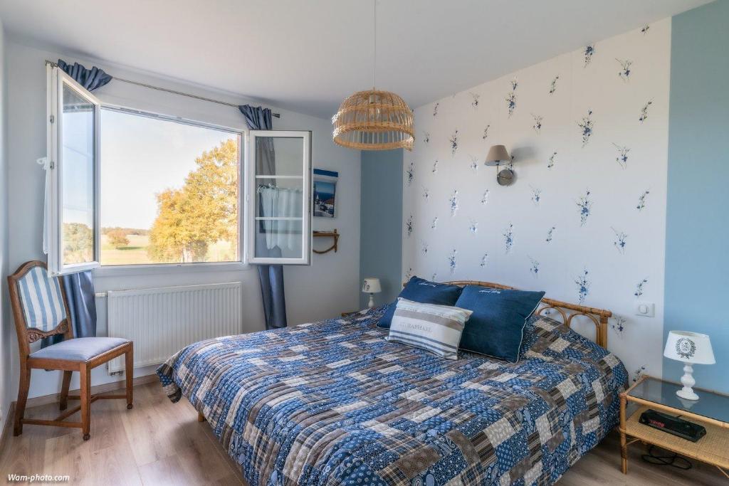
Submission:
[[[681,377],[681,384],[684,385],[676,392],[682,399],[698,400],[698,395],[693,391],[696,380],[693,379],[692,364],[714,364],[714,351],[712,342],[706,334],[688,331],[668,332],[666,349],[663,350],[666,358],[683,361],[684,375]]]

